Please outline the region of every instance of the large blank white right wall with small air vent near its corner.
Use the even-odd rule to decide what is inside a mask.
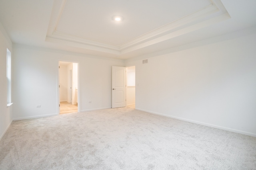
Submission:
[[[255,28],[127,60],[136,109],[256,136]]]

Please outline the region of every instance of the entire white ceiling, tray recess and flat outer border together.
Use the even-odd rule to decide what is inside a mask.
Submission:
[[[256,25],[256,0],[0,0],[13,43],[128,59]],[[123,21],[112,20],[122,16]]]

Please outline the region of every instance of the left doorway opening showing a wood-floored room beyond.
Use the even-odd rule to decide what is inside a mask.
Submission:
[[[78,112],[78,63],[59,61],[59,114]]]

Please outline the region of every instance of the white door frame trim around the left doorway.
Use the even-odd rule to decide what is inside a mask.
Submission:
[[[70,60],[59,60],[58,61],[58,78],[57,78],[57,111],[58,115],[60,114],[60,61],[68,62],[68,63],[77,63],[77,111],[80,112],[80,63],[78,61],[70,61]]]

